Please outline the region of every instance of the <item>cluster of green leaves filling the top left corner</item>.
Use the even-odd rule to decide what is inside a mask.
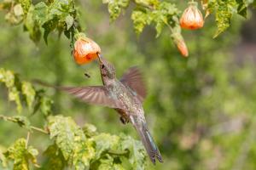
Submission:
[[[24,30],[29,32],[34,42],[39,42],[44,32],[47,43],[49,33],[54,30],[59,35],[64,31],[68,38],[73,38],[74,30],[79,27],[73,0],[42,1],[37,4],[32,4],[30,0],[4,0],[0,6],[7,11],[5,20],[12,25],[23,23]]]

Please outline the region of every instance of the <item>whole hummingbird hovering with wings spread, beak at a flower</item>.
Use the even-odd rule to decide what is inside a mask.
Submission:
[[[98,55],[103,86],[61,87],[61,90],[72,94],[91,105],[102,105],[113,108],[119,113],[120,121],[131,122],[137,130],[150,160],[163,162],[154,139],[148,131],[143,111],[143,100],[147,92],[143,77],[137,67],[131,67],[119,80],[114,66],[107,59]]]

